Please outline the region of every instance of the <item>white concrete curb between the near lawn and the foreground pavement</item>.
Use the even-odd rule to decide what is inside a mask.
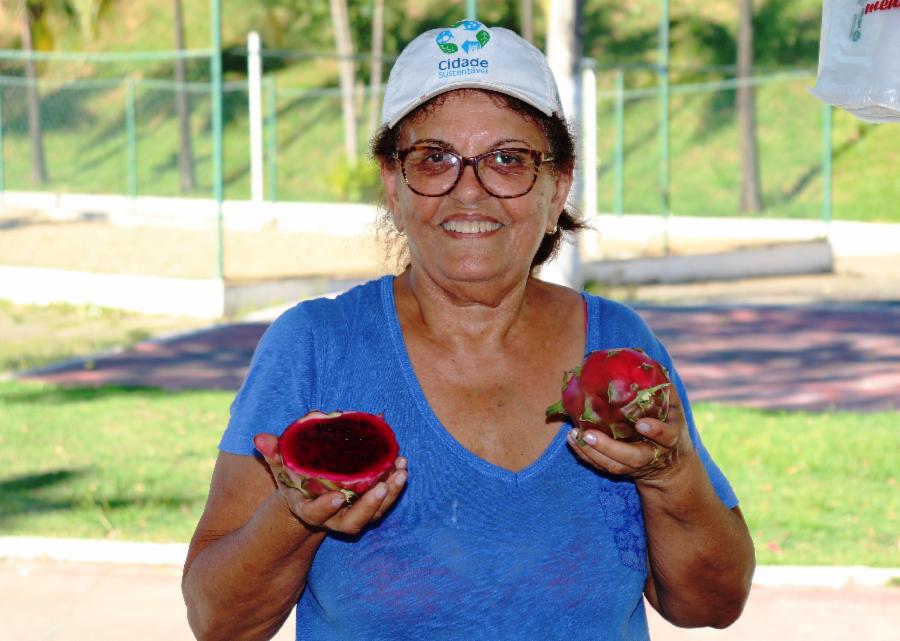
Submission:
[[[0,537],[0,559],[118,563],[181,567],[184,543],[139,543],[49,537]],[[772,587],[885,587],[900,578],[900,568],[863,566],[775,566],[756,568],[754,585]]]

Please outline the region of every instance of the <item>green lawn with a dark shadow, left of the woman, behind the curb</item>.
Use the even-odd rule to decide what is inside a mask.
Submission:
[[[0,531],[186,541],[230,397],[0,383]]]

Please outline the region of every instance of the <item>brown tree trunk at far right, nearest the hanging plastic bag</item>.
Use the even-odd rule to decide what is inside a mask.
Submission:
[[[753,0],[740,0],[740,25],[738,27],[738,126],[741,148],[741,211],[763,210],[762,187],[759,176],[759,150],[756,135],[756,96],[753,76]]]

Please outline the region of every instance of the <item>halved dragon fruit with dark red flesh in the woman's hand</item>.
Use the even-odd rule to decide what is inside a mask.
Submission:
[[[400,448],[384,419],[365,412],[335,412],[295,421],[278,439],[281,460],[294,475],[281,481],[315,498],[339,491],[348,503],[394,469]]]

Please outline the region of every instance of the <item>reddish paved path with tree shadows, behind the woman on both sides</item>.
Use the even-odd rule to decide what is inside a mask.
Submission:
[[[638,308],[693,401],[900,407],[900,304]],[[32,373],[63,384],[236,390],[265,323],[219,325]]]

